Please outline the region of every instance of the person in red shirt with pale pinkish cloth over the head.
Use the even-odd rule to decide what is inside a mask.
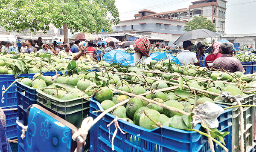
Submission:
[[[212,54],[208,55],[205,58],[205,66],[207,68],[212,67],[212,63],[215,59],[222,56],[221,52],[221,42],[216,42],[212,44]]]

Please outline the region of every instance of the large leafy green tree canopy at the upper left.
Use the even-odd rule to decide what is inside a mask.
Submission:
[[[7,31],[47,32],[52,23],[71,32],[112,31],[119,23],[115,0],[0,0],[0,26]]]

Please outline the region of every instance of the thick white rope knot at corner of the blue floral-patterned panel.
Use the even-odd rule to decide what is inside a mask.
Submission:
[[[81,124],[81,128],[78,129],[78,132],[75,132],[72,135],[72,139],[73,141],[76,141],[76,138],[81,135],[84,138],[84,145],[86,144],[85,140],[87,137],[87,134],[90,130],[90,127],[93,124],[93,118],[92,117],[87,117],[83,120],[82,124]]]

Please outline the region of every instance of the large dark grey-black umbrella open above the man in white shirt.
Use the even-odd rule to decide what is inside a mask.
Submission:
[[[184,34],[182,34],[175,41],[175,43],[177,44],[179,42],[184,42],[186,40],[195,40],[195,39],[201,39],[201,38],[207,38],[207,37],[216,37],[216,36],[220,36],[220,34],[212,32],[208,29],[195,29],[195,30],[185,32]]]

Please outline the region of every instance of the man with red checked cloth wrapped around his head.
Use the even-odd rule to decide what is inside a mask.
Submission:
[[[140,39],[137,39],[134,41],[134,63],[137,66],[137,64],[150,64],[151,57],[149,55],[149,51],[151,48],[151,44],[146,37],[142,37]]]

